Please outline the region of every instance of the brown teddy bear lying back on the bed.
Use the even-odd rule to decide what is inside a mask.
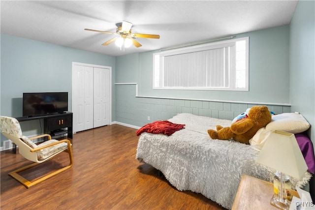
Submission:
[[[217,131],[208,130],[212,139],[229,140],[250,144],[250,139],[262,127],[265,127],[271,121],[271,114],[266,106],[253,106],[248,117],[231,124],[231,127],[222,127],[217,125]]]

